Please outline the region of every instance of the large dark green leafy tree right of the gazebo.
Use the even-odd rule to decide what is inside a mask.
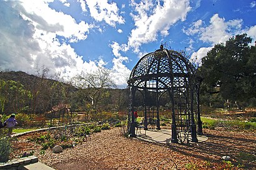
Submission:
[[[247,34],[236,35],[225,44],[216,44],[202,58],[199,74],[207,92],[240,103],[256,96],[256,50],[251,42]]]

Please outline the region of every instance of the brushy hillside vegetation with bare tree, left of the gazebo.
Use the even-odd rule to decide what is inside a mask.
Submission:
[[[111,89],[115,85],[106,68],[77,75],[71,83],[59,82],[59,77],[47,78],[48,71],[38,70],[37,76],[0,72],[3,120],[16,113],[18,126],[33,127],[126,118],[126,89]]]

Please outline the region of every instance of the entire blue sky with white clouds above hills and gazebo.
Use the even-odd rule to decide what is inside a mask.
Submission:
[[[256,40],[254,0],[0,0],[0,70],[65,82],[99,67],[126,88],[139,59],[166,44],[200,64],[237,34]]]

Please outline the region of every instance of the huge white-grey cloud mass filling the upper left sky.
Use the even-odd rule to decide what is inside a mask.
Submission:
[[[76,23],[71,16],[49,8],[47,1],[0,1],[0,8],[1,69],[34,73],[37,66],[44,66],[68,80],[100,64],[84,62],[71,45],[56,38],[86,39],[91,28],[86,22]]]

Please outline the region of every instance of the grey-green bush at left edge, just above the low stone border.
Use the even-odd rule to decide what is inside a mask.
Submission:
[[[5,163],[9,160],[11,153],[11,143],[9,138],[0,138],[0,162]]]

